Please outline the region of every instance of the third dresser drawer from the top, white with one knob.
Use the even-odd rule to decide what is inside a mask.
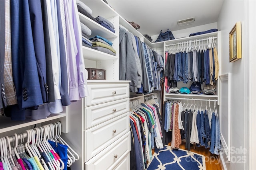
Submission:
[[[84,162],[127,133],[129,125],[127,112],[84,131]]]

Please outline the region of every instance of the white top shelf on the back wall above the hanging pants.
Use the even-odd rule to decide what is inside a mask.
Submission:
[[[195,35],[195,36],[191,36],[191,37],[183,37],[183,38],[178,38],[178,39],[172,39],[172,40],[163,41],[163,42],[165,43],[165,45],[172,45],[172,44],[175,44],[175,43],[180,43],[180,42],[183,42],[183,41],[190,41],[190,40],[194,40],[194,39],[203,39],[203,38],[208,38],[208,37],[217,37],[218,36],[218,32],[219,31],[215,31],[215,32],[212,32],[212,33]]]

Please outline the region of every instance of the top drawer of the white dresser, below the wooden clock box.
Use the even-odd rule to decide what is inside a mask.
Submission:
[[[84,100],[84,106],[91,106],[117,99],[129,98],[129,83],[89,84],[89,96]]]

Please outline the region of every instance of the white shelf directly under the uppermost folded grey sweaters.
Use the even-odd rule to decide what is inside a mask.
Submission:
[[[109,29],[106,29],[102,25],[98,24],[97,22],[91,20],[87,16],[79,13],[79,19],[84,25],[86,25],[89,29],[92,31],[92,35],[90,37],[94,37],[96,35],[99,35],[101,37],[104,37],[106,39],[112,39],[118,37],[115,33],[110,31]]]

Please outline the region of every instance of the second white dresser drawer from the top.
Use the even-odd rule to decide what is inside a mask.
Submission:
[[[84,130],[129,111],[130,99],[84,107]]]

